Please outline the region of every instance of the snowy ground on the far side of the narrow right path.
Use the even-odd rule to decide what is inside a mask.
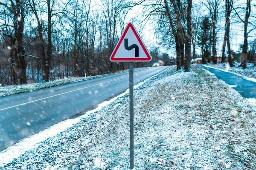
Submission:
[[[229,71],[232,73],[240,74],[246,77],[256,79],[256,66],[253,63],[246,63],[247,68],[243,69],[242,67],[238,67],[241,63],[235,63],[236,67],[230,67],[228,62],[225,63],[217,63],[217,64],[204,64],[206,66],[219,68],[224,71]],[[250,79],[252,80],[252,79]]]

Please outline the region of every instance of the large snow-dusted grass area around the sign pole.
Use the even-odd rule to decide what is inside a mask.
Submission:
[[[206,71],[171,68],[134,91],[135,169],[256,169],[255,108]],[[129,95],[0,167],[129,168]]]

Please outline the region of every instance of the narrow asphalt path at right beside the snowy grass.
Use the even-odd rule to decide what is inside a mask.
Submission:
[[[222,79],[233,88],[238,91],[245,98],[256,98],[256,82],[244,79],[236,74],[221,71],[215,68],[205,67],[204,65],[196,65],[199,68],[204,68],[211,73],[215,74],[216,77]]]

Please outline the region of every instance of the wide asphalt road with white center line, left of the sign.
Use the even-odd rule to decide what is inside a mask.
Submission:
[[[169,66],[134,70],[134,85]],[[0,97],[0,151],[129,88],[129,72]]]

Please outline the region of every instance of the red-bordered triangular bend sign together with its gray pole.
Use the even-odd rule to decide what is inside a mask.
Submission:
[[[119,42],[111,54],[111,61],[129,62],[130,88],[130,169],[134,168],[134,61],[151,61],[152,57],[132,23],[128,23]]]

